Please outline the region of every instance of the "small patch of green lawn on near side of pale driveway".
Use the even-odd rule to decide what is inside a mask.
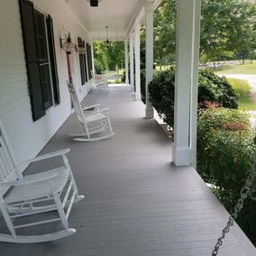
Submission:
[[[234,91],[239,95],[239,108],[242,110],[256,110],[256,101],[251,98],[251,86],[249,83],[245,80],[236,78],[228,78],[227,80],[232,85]]]

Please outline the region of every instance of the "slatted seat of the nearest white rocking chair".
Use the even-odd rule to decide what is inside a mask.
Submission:
[[[52,175],[53,173],[57,173],[57,176],[55,178],[52,178],[51,180],[52,187],[54,187],[54,190],[56,192],[60,192],[67,184],[67,181],[69,178],[69,169],[66,169],[65,167],[58,168],[58,169],[51,169],[43,173],[28,175],[28,176],[25,176],[23,180],[32,181],[38,178],[45,178],[49,175]],[[14,203],[14,202],[19,202],[23,200],[29,200],[32,198],[47,197],[47,196],[50,196],[52,193],[52,190],[49,184],[48,183],[46,184],[43,181],[38,183],[15,186],[10,190],[11,191],[8,191],[7,194],[5,195],[6,203]]]

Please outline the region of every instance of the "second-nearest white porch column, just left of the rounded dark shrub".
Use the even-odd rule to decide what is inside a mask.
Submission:
[[[153,12],[152,3],[145,3],[146,19],[146,118],[153,118],[154,111],[149,100],[149,83],[153,79]]]

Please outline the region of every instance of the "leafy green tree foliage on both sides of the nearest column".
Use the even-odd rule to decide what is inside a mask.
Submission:
[[[176,0],[163,0],[154,14],[154,54],[160,64],[174,59]],[[201,62],[238,56],[251,58],[256,48],[256,7],[251,1],[203,0]]]

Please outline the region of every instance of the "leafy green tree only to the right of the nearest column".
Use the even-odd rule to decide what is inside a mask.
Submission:
[[[248,1],[204,0],[202,5],[200,58],[223,59],[226,53],[253,51],[255,5]]]

